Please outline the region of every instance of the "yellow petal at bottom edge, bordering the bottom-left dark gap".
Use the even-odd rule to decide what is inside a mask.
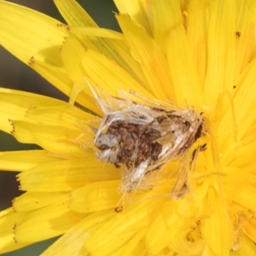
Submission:
[[[50,246],[42,256],[79,256],[83,252],[85,241],[91,236],[92,228],[98,228],[102,223],[116,215],[115,211],[99,211],[86,216],[79,223],[70,228],[52,246]],[[86,255],[88,251],[82,253]]]

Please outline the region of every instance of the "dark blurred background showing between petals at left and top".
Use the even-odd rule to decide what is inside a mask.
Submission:
[[[58,12],[53,0],[12,0],[22,6],[27,6],[45,13],[55,19],[65,22]],[[77,0],[102,28],[119,30],[113,12],[118,12],[113,0]],[[67,96],[47,83],[34,70],[17,60],[0,45],[0,86],[26,92],[34,92],[67,101]],[[15,139],[0,131],[0,151],[29,150],[38,148],[36,145],[21,144]],[[3,170],[4,171],[4,170]],[[0,172],[0,210],[12,206],[12,199],[21,195],[16,181],[17,172]],[[36,232],[36,230],[35,230]],[[4,256],[36,256],[44,252],[55,239],[49,239],[33,244],[15,252],[4,253]]]

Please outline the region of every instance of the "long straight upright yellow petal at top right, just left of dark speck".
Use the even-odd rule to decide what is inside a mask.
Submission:
[[[214,106],[219,93],[232,90],[236,65],[236,4],[214,1],[207,33],[208,63],[204,104]]]

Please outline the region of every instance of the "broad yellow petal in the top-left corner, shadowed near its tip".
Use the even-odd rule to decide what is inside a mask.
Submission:
[[[0,44],[24,63],[29,58],[61,64],[58,49],[68,33],[58,20],[24,6],[0,1]]]

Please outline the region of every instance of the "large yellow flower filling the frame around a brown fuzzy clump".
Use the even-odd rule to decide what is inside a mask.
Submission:
[[[68,26],[0,0],[0,44],[70,97],[0,90],[1,129],[44,148],[1,152],[27,192],[0,213],[0,252],[63,234],[42,255],[255,255],[256,1],[115,0],[122,33],[74,0],[54,3]],[[150,189],[129,202],[122,171],[91,150],[104,113],[87,81],[204,113],[187,156],[145,175]],[[203,145],[188,195],[173,199],[182,161]]]

